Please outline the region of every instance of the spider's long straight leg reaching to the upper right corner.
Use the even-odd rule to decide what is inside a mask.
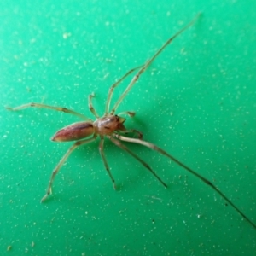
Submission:
[[[123,101],[123,99],[125,98],[126,94],[131,90],[131,87],[133,86],[133,84],[135,84],[137,82],[137,79],[139,79],[140,75],[148,68],[148,66],[154,61],[154,59],[160,55],[160,53],[162,52],[163,49],[166,48],[166,46],[170,43],[172,43],[172,40],[174,38],[177,38],[178,35],[180,35],[182,32],[184,32],[187,28],[189,28],[189,26],[192,26],[195,23],[195,20],[198,19],[198,17],[201,14],[198,14],[195,16],[195,18],[189,22],[188,25],[184,26],[180,31],[178,31],[174,36],[172,36],[172,38],[169,38],[166,43],[153,55],[153,57],[151,57],[151,59],[149,59],[149,61],[146,61],[146,63],[143,65],[143,67],[138,71],[138,73],[133,77],[133,79],[131,79],[130,84],[128,84],[128,86],[126,87],[125,91],[122,93],[121,96],[119,96],[118,101],[114,104],[113,109],[110,111],[110,114],[115,113],[116,109],[119,107],[119,104]]]

